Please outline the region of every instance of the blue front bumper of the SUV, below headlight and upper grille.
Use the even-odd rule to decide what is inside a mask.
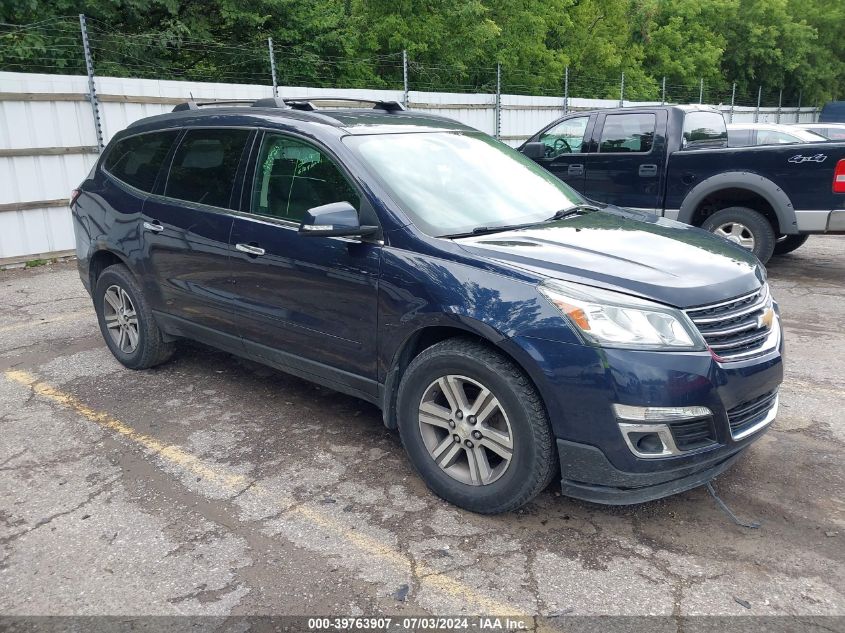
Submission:
[[[777,412],[782,336],[774,349],[729,363],[718,362],[709,353],[517,340],[531,352],[534,368],[542,370],[534,377],[556,436],[566,496],[624,505],[703,485],[762,437]],[[615,403],[706,407],[712,413],[708,441],[668,456],[639,457],[626,443],[620,423],[627,420],[617,418]]]

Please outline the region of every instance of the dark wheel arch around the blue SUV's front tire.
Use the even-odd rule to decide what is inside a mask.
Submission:
[[[531,379],[543,406],[546,406],[534,372],[530,371],[525,359],[520,359],[519,347],[510,343],[510,339],[486,323],[470,318],[462,318],[454,324],[425,324],[411,332],[402,341],[393,355],[391,365],[385,375],[384,391],[382,394],[382,420],[384,425],[395,430],[398,426],[396,401],[399,393],[399,382],[411,361],[421,352],[441,341],[450,338],[464,338],[476,341],[496,350],[513,362]],[[509,344],[510,343],[510,344]]]

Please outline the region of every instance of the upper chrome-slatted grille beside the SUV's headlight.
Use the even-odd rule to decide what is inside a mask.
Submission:
[[[764,351],[771,329],[763,317],[772,306],[769,285],[750,294],[686,310],[707,345],[723,360],[737,360]]]

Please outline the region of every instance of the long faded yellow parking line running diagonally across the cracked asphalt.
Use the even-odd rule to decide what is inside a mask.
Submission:
[[[193,475],[199,475],[206,481],[215,482],[232,492],[243,490],[245,487],[250,485],[249,478],[244,475],[231,472],[218,464],[205,462],[202,458],[192,455],[179,446],[174,444],[165,444],[151,435],[141,433],[108,413],[92,409],[80,401],[76,396],[65,393],[64,391],[56,389],[52,385],[40,381],[36,376],[29,372],[9,370],[5,372],[5,375],[8,379],[29,387],[35,394],[63,407],[72,409],[90,422],[94,422],[109,431],[123,436],[134,444],[155,453],[171,465],[174,465]],[[278,503],[280,501],[276,493],[266,490],[260,484],[253,484],[250,489],[256,494],[266,496],[267,500],[270,502]],[[292,502],[291,499],[281,499],[281,501],[284,506],[287,506]],[[353,545],[359,551],[392,565],[406,569],[410,572],[411,561],[405,554],[395,548],[386,545],[377,539],[360,534],[354,530],[350,530],[338,523],[331,516],[320,512],[319,510],[295,505],[290,509],[290,512],[305,519],[317,529],[333,532],[335,535]],[[428,588],[445,594],[451,598],[458,598],[479,614],[493,616],[516,616],[523,613],[521,609],[485,596],[482,593],[479,593],[474,587],[471,587],[459,580],[449,578],[424,563],[420,563],[416,566],[416,572],[421,585],[427,586]]]

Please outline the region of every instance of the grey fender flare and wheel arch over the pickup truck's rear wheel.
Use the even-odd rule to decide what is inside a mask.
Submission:
[[[730,206],[760,212],[775,233],[798,233],[795,209],[786,192],[768,178],[744,171],[723,172],[698,183],[681,204],[678,220],[701,226],[710,214]]]

